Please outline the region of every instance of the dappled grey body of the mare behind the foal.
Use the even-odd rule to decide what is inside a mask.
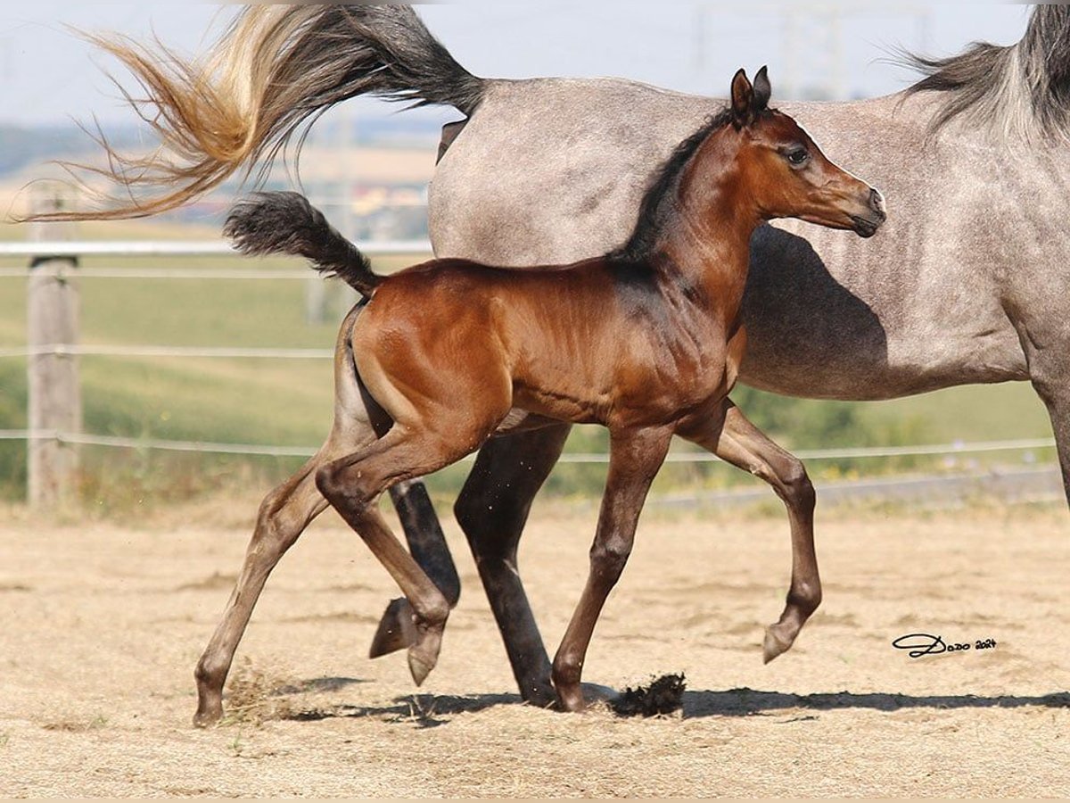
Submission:
[[[431,183],[435,253],[522,266],[613,247],[642,166],[717,103],[622,80],[492,82]],[[960,121],[927,141],[932,94],[782,108],[901,214],[874,243],[793,221],[755,233],[740,381],[881,399],[1028,379],[1015,325],[1070,298],[1070,148],[992,142]]]

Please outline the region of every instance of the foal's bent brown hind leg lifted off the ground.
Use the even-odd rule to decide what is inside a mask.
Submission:
[[[376,500],[397,482],[460,459],[467,450],[454,445],[457,442],[471,443],[472,439],[447,440],[429,429],[397,424],[367,449],[333,460],[316,473],[320,493],[364,540],[412,606],[415,632],[409,647],[409,669],[417,685],[438,662],[450,605],[391,532]]]

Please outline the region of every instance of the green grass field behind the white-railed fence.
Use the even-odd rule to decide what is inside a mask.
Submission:
[[[88,236],[100,237],[90,227]],[[128,227],[139,237],[167,236],[167,227]],[[148,233],[147,233],[148,232]],[[11,236],[11,229],[4,232]],[[207,232],[195,232],[204,237]],[[111,237],[119,238],[118,233]],[[394,270],[403,258],[381,260],[380,270]],[[297,260],[241,259],[88,259],[94,267],[227,268],[271,270],[301,267]],[[19,267],[7,260],[4,267]],[[305,282],[204,279],[81,279],[81,344],[107,346],[213,346],[331,349],[337,321],[348,308],[345,288],[332,283],[331,322],[305,320]],[[26,343],[26,282],[0,278],[0,348]],[[154,437],[234,443],[317,446],[325,436],[332,413],[332,363],[319,360],[118,358],[80,359],[85,430],[100,435]],[[0,428],[26,425],[26,360],[0,359]],[[785,446],[814,449],[828,445],[949,443],[1048,437],[1046,414],[1026,383],[957,388],[911,398],[881,403],[831,403],[783,399],[746,393],[745,407],[762,422],[769,411],[788,410],[773,418],[789,422],[771,433]],[[598,427],[577,427],[570,451],[605,449]],[[1042,450],[1041,460],[1053,459]],[[1021,454],[999,454],[987,460],[1021,461]],[[7,497],[21,494],[25,448],[0,443],[0,486]],[[182,496],[217,487],[226,476],[242,474],[248,482],[272,482],[300,464],[290,458],[190,458],[165,454],[129,453],[110,449],[86,452],[88,473],[109,467],[116,482],[134,485],[137,494]],[[936,466],[936,460],[814,461],[812,473],[872,473]],[[179,472],[178,479],[173,472]],[[242,473],[244,472],[244,473]],[[266,476],[263,479],[261,474]],[[453,493],[463,467],[447,470],[435,486]],[[562,466],[551,478],[559,494],[598,493],[605,467]],[[190,476],[196,479],[190,479]],[[656,488],[678,485],[724,484],[742,475],[723,466],[667,468]],[[223,479],[220,479],[223,478]],[[108,494],[114,484],[95,476],[87,482],[90,495]],[[146,490],[148,488],[148,490]]]

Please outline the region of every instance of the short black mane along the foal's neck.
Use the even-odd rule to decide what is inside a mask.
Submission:
[[[658,234],[663,228],[669,213],[673,210],[676,188],[679,186],[679,177],[684,172],[684,166],[691,161],[691,156],[699,150],[699,146],[706,137],[728,125],[731,121],[732,109],[725,107],[707,117],[698,131],[676,146],[669,158],[654,171],[639,206],[639,219],[636,222],[631,236],[624,245],[607,254],[607,259],[640,262],[654,252]]]

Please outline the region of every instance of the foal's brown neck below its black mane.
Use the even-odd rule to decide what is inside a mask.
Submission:
[[[734,330],[739,317],[750,238],[763,222],[742,190],[732,143],[707,141],[684,168],[675,219],[659,238],[654,259],[659,272],[683,288],[691,303]]]

